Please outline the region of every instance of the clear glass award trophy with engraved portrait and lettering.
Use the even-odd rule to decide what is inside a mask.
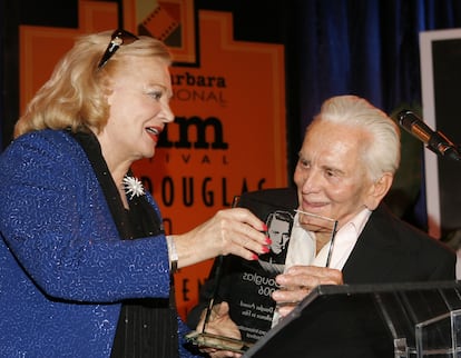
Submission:
[[[207,291],[210,292],[210,297],[204,309],[203,328],[186,335],[186,340],[199,347],[245,352],[273,326],[276,305],[271,295],[274,290],[281,289],[275,277],[284,271],[294,218],[300,218],[303,228],[328,232],[331,243],[327,261],[333,250],[337,222],[330,218],[300,212],[293,207],[281,205],[279,201],[273,203],[262,198],[252,198],[249,201],[243,197],[238,206],[248,208],[266,222],[266,233],[272,240],[269,252],[259,255],[254,261],[232,255],[216,258],[209,279],[205,284],[208,285]],[[223,301],[229,305],[229,316],[241,334],[238,338],[216,335],[210,329],[213,307]]]

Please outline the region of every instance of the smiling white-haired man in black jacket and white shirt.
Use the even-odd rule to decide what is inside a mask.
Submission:
[[[287,197],[286,189],[268,190],[271,200],[277,201],[279,191],[285,202],[297,208],[284,272],[276,277],[283,289],[272,294],[277,305],[274,322],[318,285],[455,278],[455,253],[382,203],[399,163],[400,130],[383,111],[355,96],[333,97],[323,103],[298,153],[297,193]],[[264,191],[245,196],[261,199]],[[337,222],[334,246],[331,229],[323,230],[303,212]],[[223,278],[226,275],[235,272],[224,272]],[[217,311],[224,320],[226,310]]]

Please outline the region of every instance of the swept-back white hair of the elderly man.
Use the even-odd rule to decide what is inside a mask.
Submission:
[[[362,129],[369,136],[361,142],[362,159],[372,180],[384,172],[392,175],[400,165],[400,129],[382,110],[356,96],[327,99],[307,131],[318,121],[328,121]]]

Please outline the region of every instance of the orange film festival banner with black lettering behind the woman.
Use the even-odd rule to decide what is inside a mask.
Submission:
[[[171,49],[175,122],[153,159],[134,166],[156,198],[167,233],[185,232],[243,191],[287,185],[282,44],[234,41],[228,12],[193,1],[124,0],[125,28]],[[21,108],[76,36],[117,28],[117,6],[80,0],[79,29],[21,27]],[[197,302],[212,260],[175,277],[179,314]]]

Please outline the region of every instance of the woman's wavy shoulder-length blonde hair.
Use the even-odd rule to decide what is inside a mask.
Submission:
[[[110,77],[118,70],[129,69],[122,60],[128,56],[155,57],[171,63],[167,47],[151,37],[140,36],[129,44],[122,44],[110,60],[98,69],[112,31],[79,37],[56,64],[50,79],[37,91],[14,127],[14,138],[40,129],[72,131],[100,130],[108,120]]]

